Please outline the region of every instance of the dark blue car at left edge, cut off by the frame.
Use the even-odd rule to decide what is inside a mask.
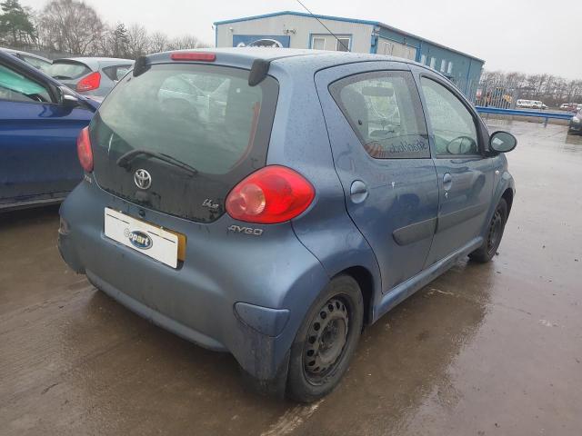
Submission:
[[[83,177],[76,138],[96,102],[0,51],[0,211],[58,203]]]

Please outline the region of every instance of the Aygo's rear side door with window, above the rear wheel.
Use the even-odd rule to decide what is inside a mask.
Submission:
[[[413,76],[406,64],[349,64],[317,73],[316,87],[347,212],[387,292],[422,270],[437,218],[437,173]]]

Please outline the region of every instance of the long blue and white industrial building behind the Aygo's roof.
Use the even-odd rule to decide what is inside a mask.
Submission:
[[[262,45],[404,57],[445,74],[470,96],[475,94],[485,64],[475,56],[378,21],[283,11],[217,21],[215,30],[217,47]]]

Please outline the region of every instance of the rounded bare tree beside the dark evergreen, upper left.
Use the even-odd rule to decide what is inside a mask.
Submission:
[[[93,54],[104,24],[95,9],[76,0],[51,0],[43,9],[39,27],[46,47],[71,54]]]

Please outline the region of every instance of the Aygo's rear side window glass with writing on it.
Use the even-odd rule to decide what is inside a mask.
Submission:
[[[430,157],[420,97],[409,72],[356,74],[329,90],[370,156]]]

